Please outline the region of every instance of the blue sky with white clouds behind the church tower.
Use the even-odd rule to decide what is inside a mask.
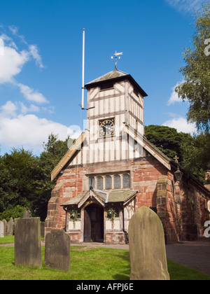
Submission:
[[[80,111],[82,33],[85,83],[118,69],[148,93],[145,125],[187,125],[188,103],[174,94],[183,76],[182,52],[192,45],[194,8],[200,0],[1,0],[0,145],[42,151],[53,132],[65,139]],[[86,98],[86,94],[85,94]]]

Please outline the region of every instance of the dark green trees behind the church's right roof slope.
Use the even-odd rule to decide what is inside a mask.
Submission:
[[[160,151],[171,160],[178,155],[183,169],[204,183],[204,171],[210,169],[210,134],[197,136],[179,133],[172,127],[149,125],[145,135]]]

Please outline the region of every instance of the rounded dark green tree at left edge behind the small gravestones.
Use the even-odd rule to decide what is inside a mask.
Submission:
[[[3,155],[0,165],[0,211],[17,205],[31,209],[31,203],[36,196],[38,158],[31,151],[13,148],[11,154]]]

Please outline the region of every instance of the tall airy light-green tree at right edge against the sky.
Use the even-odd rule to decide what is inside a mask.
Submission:
[[[186,48],[183,58],[186,66],[180,69],[184,82],[176,87],[183,100],[188,99],[188,121],[195,122],[198,130],[209,131],[210,126],[210,3],[203,6],[195,17],[194,48]],[[209,40],[209,41],[208,41]]]

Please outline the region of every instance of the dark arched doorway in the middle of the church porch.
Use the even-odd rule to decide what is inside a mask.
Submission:
[[[104,242],[104,208],[90,204],[84,209],[84,242]]]

